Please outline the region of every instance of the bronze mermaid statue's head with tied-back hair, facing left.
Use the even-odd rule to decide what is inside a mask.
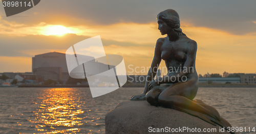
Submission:
[[[179,17],[179,14],[175,10],[167,9],[167,10],[160,12],[157,15],[157,20],[158,20],[158,23],[163,21],[169,28],[173,29],[177,33],[182,33],[182,30],[180,29],[180,17]],[[161,26],[161,25],[159,25],[159,26]],[[159,28],[159,30],[160,30],[160,28]],[[160,32],[161,32],[161,30],[160,30]],[[167,34],[167,33],[162,33],[162,35],[163,34]]]

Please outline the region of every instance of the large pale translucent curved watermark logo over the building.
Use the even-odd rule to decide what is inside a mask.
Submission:
[[[123,57],[106,55],[100,36],[68,48],[66,61],[70,77],[87,78],[93,98],[115,91],[127,81]]]

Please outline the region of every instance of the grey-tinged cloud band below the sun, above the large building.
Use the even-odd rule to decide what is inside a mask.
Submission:
[[[38,52],[38,55],[40,53],[47,52],[46,50],[67,50],[71,45],[87,38],[90,37],[77,36],[74,34],[68,34],[63,37],[44,35],[1,35],[0,56],[32,57],[35,52]]]

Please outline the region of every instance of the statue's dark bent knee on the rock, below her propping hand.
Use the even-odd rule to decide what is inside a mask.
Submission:
[[[147,92],[146,101],[148,103],[150,103],[151,105],[158,106],[159,105],[158,96],[160,95],[161,92],[162,91],[161,91],[160,86],[153,87],[150,91]]]

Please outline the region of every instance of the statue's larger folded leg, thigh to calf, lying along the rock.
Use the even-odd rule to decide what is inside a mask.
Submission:
[[[192,101],[196,96],[197,89],[197,81],[195,79],[176,83],[160,93],[158,103],[165,108],[186,112],[216,125],[211,120],[220,120],[219,113],[217,111],[211,111],[199,103]]]

